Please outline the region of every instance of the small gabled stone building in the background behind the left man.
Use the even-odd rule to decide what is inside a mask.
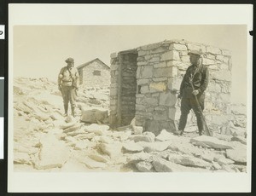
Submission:
[[[110,67],[96,58],[77,67],[80,85],[84,87],[109,87]]]

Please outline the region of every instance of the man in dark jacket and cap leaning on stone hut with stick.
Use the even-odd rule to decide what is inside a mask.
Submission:
[[[204,109],[205,93],[209,80],[209,71],[207,66],[202,64],[200,50],[191,50],[188,53],[191,66],[188,67],[183,81],[180,85],[180,94],[177,98],[181,98],[181,116],[178,124],[176,135],[182,135],[187,124],[188,114],[191,109],[195,112],[199,135],[203,131],[203,119],[201,117],[200,108],[197,105],[195,96],[197,96],[201,110]],[[193,84],[195,90],[192,89]]]

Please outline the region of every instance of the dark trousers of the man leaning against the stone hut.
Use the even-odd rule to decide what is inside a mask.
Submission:
[[[197,95],[198,102],[201,106],[201,110],[204,109],[205,95]],[[199,133],[203,130],[203,120],[201,117],[201,111],[195,101],[195,95],[184,96],[181,101],[181,116],[179,119],[178,130],[184,130],[187,124],[187,118],[190,110],[193,109],[197,121]]]

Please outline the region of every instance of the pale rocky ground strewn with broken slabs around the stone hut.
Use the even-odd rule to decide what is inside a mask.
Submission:
[[[246,172],[245,114],[236,107],[230,134],[160,135],[108,126],[109,89],[79,89],[75,118],[62,116],[57,85],[47,78],[15,78],[15,171]],[[237,112],[238,111],[238,112]],[[226,131],[225,131],[226,132]]]

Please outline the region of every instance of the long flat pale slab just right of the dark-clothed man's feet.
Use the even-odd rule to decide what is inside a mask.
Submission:
[[[217,149],[230,149],[232,146],[227,141],[221,141],[218,140],[215,137],[207,136],[207,135],[201,135],[195,138],[191,138],[191,143],[204,143],[207,146],[217,148]]]

